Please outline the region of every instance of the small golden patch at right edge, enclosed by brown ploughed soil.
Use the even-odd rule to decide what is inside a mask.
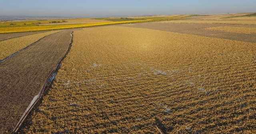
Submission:
[[[246,27],[221,26],[221,27],[205,28],[205,29],[225,31],[225,32],[240,32],[240,33],[248,33],[248,34],[256,33],[256,28],[246,28]]]

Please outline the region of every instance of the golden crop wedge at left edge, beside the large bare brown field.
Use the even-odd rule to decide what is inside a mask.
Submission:
[[[28,36],[22,36],[18,38],[12,38],[8,40],[4,40],[0,42],[0,60],[3,60],[4,58],[14,54],[18,50],[21,50],[25,48],[26,46],[36,42],[40,38],[43,38],[44,36],[54,34],[56,32],[60,32],[62,30],[57,31],[50,31],[50,32],[43,32],[39,34],[32,34]]]

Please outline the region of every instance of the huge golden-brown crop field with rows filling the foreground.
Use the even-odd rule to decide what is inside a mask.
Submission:
[[[144,28],[74,32],[32,133],[256,133],[256,44]]]

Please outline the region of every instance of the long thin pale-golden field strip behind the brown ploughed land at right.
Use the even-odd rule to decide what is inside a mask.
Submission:
[[[256,24],[254,20],[170,20],[157,23],[217,23],[217,24]]]

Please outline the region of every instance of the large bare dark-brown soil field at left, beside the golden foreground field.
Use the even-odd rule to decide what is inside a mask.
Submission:
[[[0,134],[14,129],[68,49],[71,32],[46,36],[0,64]]]

